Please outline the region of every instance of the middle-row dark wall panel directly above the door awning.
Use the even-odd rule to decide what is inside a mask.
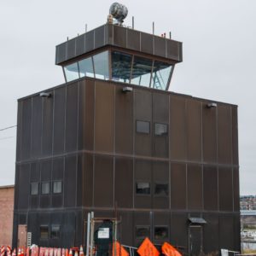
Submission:
[[[202,210],[202,170],[201,166],[188,165],[188,208]]]

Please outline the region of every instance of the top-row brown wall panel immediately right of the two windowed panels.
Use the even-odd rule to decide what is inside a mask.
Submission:
[[[180,96],[170,96],[170,156],[172,160],[185,160],[186,140],[186,101]]]

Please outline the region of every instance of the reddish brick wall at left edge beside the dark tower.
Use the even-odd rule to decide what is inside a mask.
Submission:
[[[14,186],[0,187],[0,246],[12,245]]]

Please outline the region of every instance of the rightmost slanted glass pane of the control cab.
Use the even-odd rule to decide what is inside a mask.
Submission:
[[[172,66],[162,61],[154,61],[151,87],[166,90]]]

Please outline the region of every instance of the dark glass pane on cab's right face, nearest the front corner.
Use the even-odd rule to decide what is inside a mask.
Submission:
[[[112,52],[112,80],[124,83],[130,82],[131,59],[131,55],[127,55],[119,51]]]

